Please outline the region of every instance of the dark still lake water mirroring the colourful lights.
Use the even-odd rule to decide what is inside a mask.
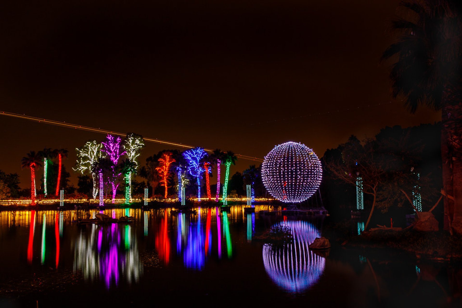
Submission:
[[[328,219],[197,208],[107,209],[130,224],[75,223],[99,211],[0,212],[0,307],[439,307],[460,305],[459,264],[308,245]],[[274,225],[293,242],[255,240]],[[364,228],[364,227],[362,227]],[[352,232],[361,222],[352,221]]]

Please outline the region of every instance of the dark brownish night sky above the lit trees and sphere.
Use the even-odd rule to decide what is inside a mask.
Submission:
[[[3,1],[0,110],[257,157],[300,141],[322,157],[351,134],[440,118],[391,98],[379,58],[399,2]],[[67,148],[70,169],[76,146],[104,138],[8,117],[0,129],[0,169],[27,185],[28,151]]]

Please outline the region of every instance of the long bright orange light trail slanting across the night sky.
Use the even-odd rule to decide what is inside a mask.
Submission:
[[[29,121],[35,121],[35,122],[45,123],[45,124],[50,124],[50,125],[55,125],[55,126],[79,129],[79,130],[88,131],[88,132],[112,134],[112,135],[118,135],[118,136],[122,136],[122,137],[126,136],[125,133],[119,133],[119,132],[115,132],[115,131],[109,131],[109,130],[106,130],[106,129],[88,127],[88,126],[83,126],[83,125],[78,125],[78,124],[71,124],[71,123],[66,123],[64,121],[61,122],[61,121],[54,121],[54,120],[48,120],[48,119],[43,119],[43,118],[37,118],[37,117],[34,117],[34,116],[29,116],[29,115],[19,115],[19,114],[15,114],[15,113],[12,113],[12,112],[0,111],[0,115],[6,115],[6,116],[13,117],[13,118],[19,118],[19,119],[24,119],[24,120],[29,120]],[[148,142],[160,143],[160,144],[163,144],[163,145],[172,145],[172,146],[176,146],[176,147],[184,148],[184,149],[192,149],[192,148],[195,147],[193,145],[185,145],[185,144],[182,144],[182,143],[170,142],[170,141],[165,141],[165,140],[160,140],[160,139],[155,139],[155,138],[143,137],[143,139],[145,141],[148,141]],[[204,149],[204,150],[209,152],[209,153],[213,152],[212,149]],[[247,155],[241,155],[241,154],[235,154],[235,155],[237,156],[237,158],[240,158],[240,159],[246,159],[246,160],[251,160],[251,161],[260,162],[260,163],[263,162],[262,158],[252,157],[252,156],[247,156]]]

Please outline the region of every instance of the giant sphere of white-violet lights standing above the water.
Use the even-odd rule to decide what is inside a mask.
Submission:
[[[296,142],[276,145],[261,165],[261,179],[268,193],[287,203],[310,198],[321,178],[321,162],[315,152]]]

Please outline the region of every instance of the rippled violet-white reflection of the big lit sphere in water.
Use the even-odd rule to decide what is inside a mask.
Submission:
[[[315,284],[324,272],[325,259],[308,249],[319,231],[311,223],[286,221],[293,242],[284,247],[263,245],[263,265],[274,283],[288,292],[303,292]]]

